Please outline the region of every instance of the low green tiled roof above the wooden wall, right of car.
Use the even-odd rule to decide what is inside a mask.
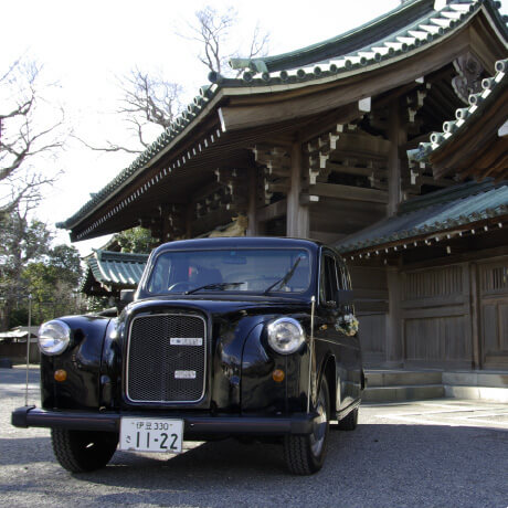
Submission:
[[[337,245],[341,253],[373,251],[422,235],[464,229],[508,214],[508,182],[468,182],[403,203],[396,215],[352,234]]]

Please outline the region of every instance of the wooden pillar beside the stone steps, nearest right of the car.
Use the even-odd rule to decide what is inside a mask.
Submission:
[[[401,317],[401,276],[395,266],[387,267],[389,314],[387,316],[387,367],[402,367],[404,362]]]

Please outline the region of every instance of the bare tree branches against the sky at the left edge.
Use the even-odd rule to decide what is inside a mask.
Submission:
[[[39,201],[41,188],[57,176],[39,169],[64,142],[63,109],[44,100],[46,86],[33,62],[18,60],[0,75],[0,213]]]

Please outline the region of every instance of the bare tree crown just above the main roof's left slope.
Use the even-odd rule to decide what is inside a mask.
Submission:
[[[157,135],[168,128],[180,113],[179,97],[182,87],[158,75],[149,75],[139,68],[119,78],[123,98],[116,110],[128,125],[128,129],[138,141],[137,147],[126,147],[106,140],[106,146],[95,147],[80,139],[85,146],[97,151],[125,151],[141,154],[152,141],[151,135]],[[156,129],[151,127],[156,126]]]

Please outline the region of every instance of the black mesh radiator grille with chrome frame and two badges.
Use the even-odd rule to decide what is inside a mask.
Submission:
[[[126,368],[131,402],[198,402],[207,371],[204,319],[182,314],[135,317]]]

